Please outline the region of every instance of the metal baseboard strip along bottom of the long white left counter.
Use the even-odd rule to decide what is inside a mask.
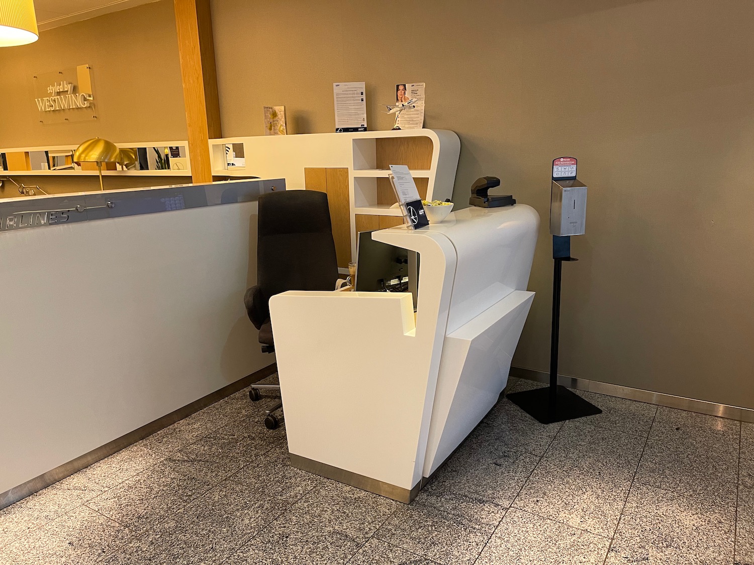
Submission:
[[[201,399],[195,400],[189,405],[185,405],[183,408],[179,408],[176,411],[170,412],[170,414],[165,414],[163,417],[158,418],[153,422],[134,429],[133,432],[121,435],[120,438],[109,441],[102,447],[97,447],[97,449],[93,449],[80,457],[76,457],[68,463],[63,463],[63,465],[55,467],[55,469],[52,469],[43,475],[29,479],[29,481],[26,481],[17,487],[6,490],[5,493],[0,493],[0,509],[4,509],[6,506],[10,506],[14,502],[26,498],[26,496],[34,494],[45,487],[49,487],[51,484],[57,483],[57,481],[62,481],[64,478],[73,475],[75,472],[81,471],[81,469],[86,469],[88,466],[97,463],[97,461],[118,453],[121,449],[135,444],[136,441],[141,441],[147,436],[159,432],[161,429],[167,428],[167,426],[172,426],[174,423],[183,420],[185,417],[191,416],[202,408],[207,408],[207,406],[213,405],[215,402],[234,394],[234,392],[238,392],[250,384],[268,377],[275,371],[277,371],[277,365],[275,363],[268,365],[267,367],[259,369],[259,371],[249,374],[234,383],[230,383],[228,386],[223,386],[222,389],[218,389],[215,392],[203,396]]]

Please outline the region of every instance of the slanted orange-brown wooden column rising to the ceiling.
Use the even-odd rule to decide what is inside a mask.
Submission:
[[[192,180],[212,182],[209,139],[222,137],[210,0],[173,0]]]

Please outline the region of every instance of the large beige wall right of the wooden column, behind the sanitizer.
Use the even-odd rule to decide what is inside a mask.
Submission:
[[[550,160],[590,186],[563,276],[561,373],[754,408],[754,5],[745,0],[213,0],[222,130],[332,131],[334,81],[427,83],[483,175],[538,209],[538,295],[514,365],[549,366]],[[316,164],[316,163],[314,163]]]

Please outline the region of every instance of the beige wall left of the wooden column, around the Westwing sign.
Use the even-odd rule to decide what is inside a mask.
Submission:
[[[97,120],[40,124],[32,76],[88,63]],[[43,31],[0,49],[0,148],[186,139],[173,2],[162,0]],[[51,181],[48,181],[51,182]]]

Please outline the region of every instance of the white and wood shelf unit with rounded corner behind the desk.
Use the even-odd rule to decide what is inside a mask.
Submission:
[[[453,194],[461,151],[454,132],[428,129],[232,137],[209,143],[213,176],[284,178],[288,190],[326,191],[341,268],[348,264],[343,249],[351,249],[351,260],[356,256],[358,231],[403,223],[400,209],[390,207],[395,203],[388,179],[390,165],[409,167],[421,197],[445,200]],[[236,145],[234,152],[243,151],[245,164],[228,169],[225,145],[234,144],[242,145]],[[326,180],[323,185],[330,169],[348,171],[348,194],[339,185],[331,193]],[[344,223],[346,209],[348,222]],[[348,232],[342,229],[344,224]]]

